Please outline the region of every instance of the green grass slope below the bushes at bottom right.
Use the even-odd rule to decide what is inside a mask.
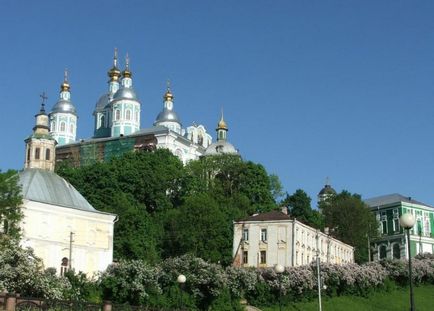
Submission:
[[[323,299],[323,311],[400,311],[410,310],[408,288],[399,288],[391,292],[378,292],[368,298],[341,296]],[[417,311],[434,310],[434,285],[414,287],[415,309]],[[279,306],[262,308],[264,311],[278,311]],[[300,302],[291,306],[283,306],[285,311],[317,311],[318,302]]]

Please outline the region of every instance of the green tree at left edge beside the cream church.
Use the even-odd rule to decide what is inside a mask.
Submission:
[[[17,172],[0,172],[0,245],[20,237],[22,199]]]

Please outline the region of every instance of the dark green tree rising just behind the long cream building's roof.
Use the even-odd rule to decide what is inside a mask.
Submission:
[[[297,220],[317,229],[324,227],[323,216],[312,209],[311,198],[302,189],[297,189],[292,195],[287,195],[282,203],[288,206],[289,214]]]

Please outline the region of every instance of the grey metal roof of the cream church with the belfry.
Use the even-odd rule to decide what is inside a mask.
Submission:
[[[97,212],[69,182],[54,172],[24,169],[18,176],[26,200]]]

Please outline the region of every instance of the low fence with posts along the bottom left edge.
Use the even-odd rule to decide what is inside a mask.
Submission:
[[[48,300],[0,293],[0,310],[5,311],[168,311],[167,309],[105,301],[94,304],[81,301]],[[173,309],[172,309],[173,310]],[[179,311],[182,311],[178,309]]]

